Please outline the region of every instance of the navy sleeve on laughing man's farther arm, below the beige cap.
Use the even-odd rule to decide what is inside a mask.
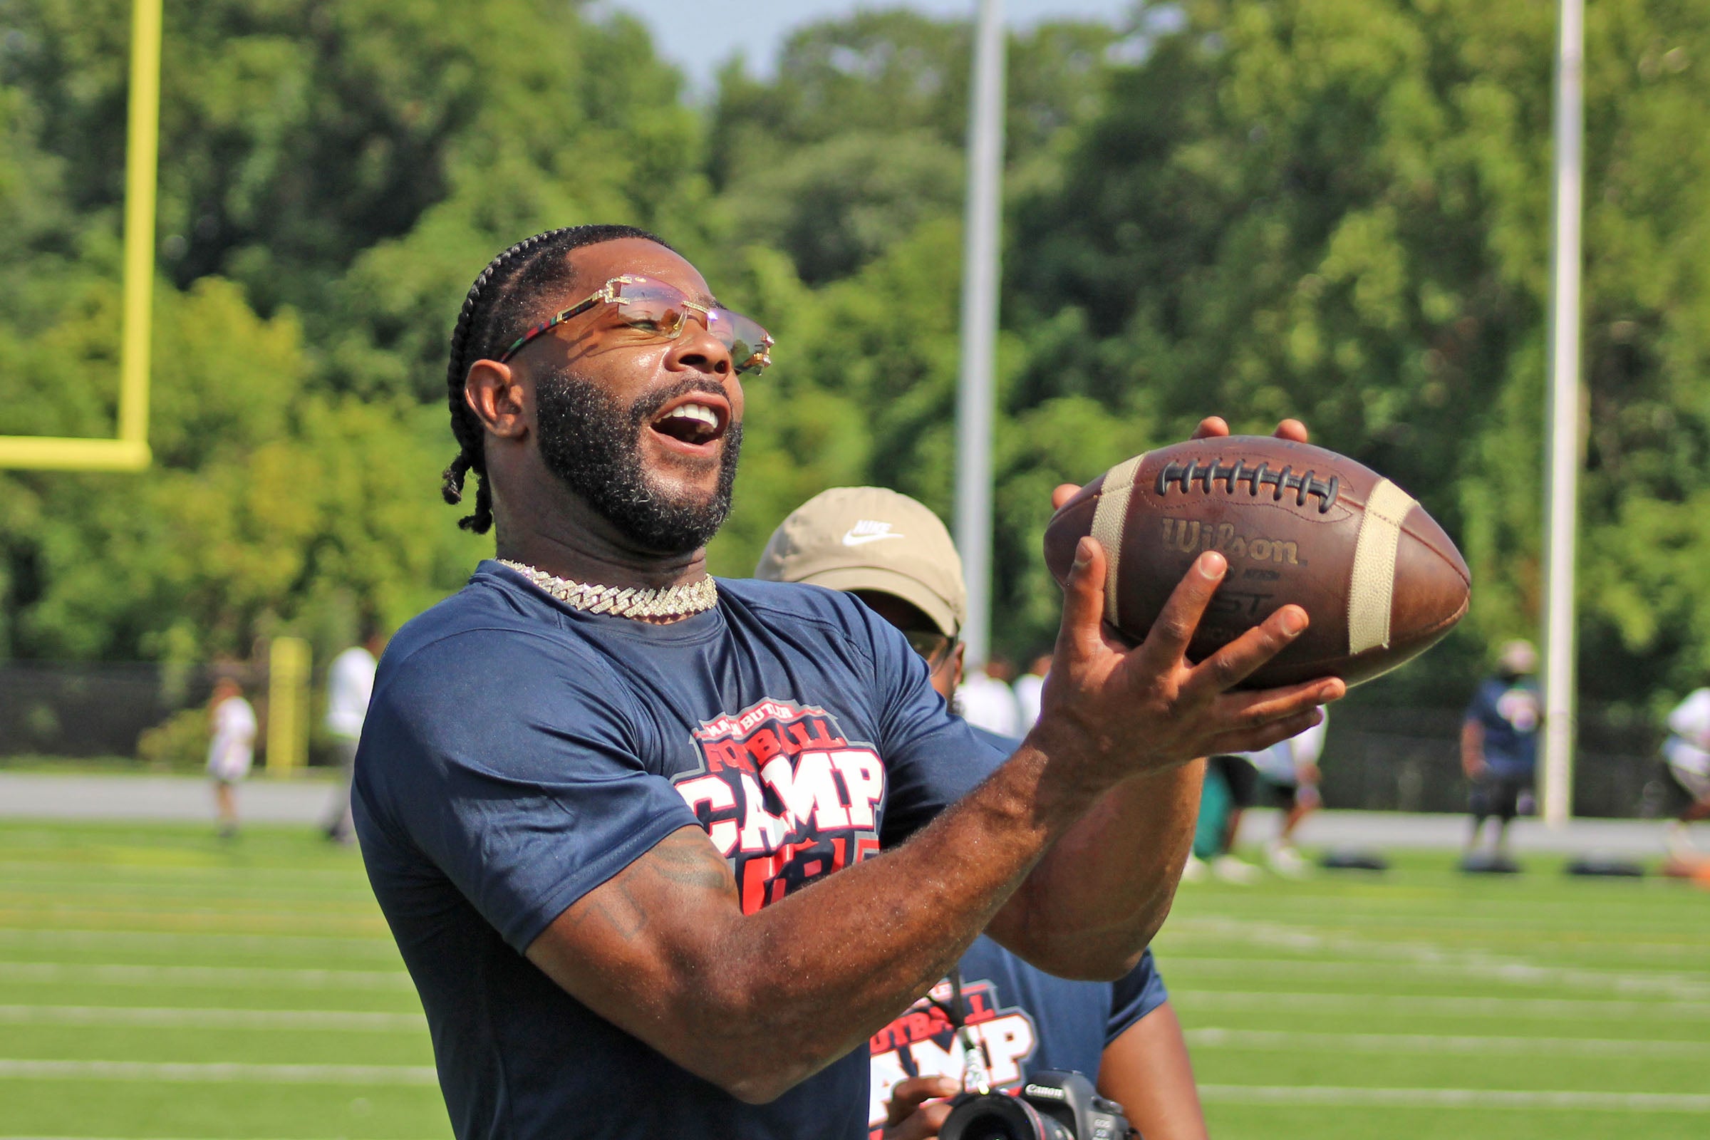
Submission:
[[[1009,752],[980,740],[949,711],[925,660],[896,627],[860,610],[872,644],[879,754],[891,779],[879,841],[893,848],[973,791]]]

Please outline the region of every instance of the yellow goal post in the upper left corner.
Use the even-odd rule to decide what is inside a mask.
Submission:
[[[0,468],[140,472],[149,467],[149,344],[154,323],[154,191],[161,138],[161,3],[133,0],[125,133],[125,316],[118,438],[0,436]]]

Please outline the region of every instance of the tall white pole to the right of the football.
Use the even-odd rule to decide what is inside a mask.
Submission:
[[[1549,318],[1549,514],[1544,530],[1544,820],[1573,814],[1573,545],[1580,473],[1580,198],[1585,0],[1561,0]]]

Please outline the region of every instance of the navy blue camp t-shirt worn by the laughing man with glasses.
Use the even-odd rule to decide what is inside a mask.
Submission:
[[[855,598],[723,581],[670,626],[571,610],[482,562],[386,648],[354,808],[460,1140],[857,1140],[857,1049],[751,1106],[564,993],[523,950],[667,834],[742,908],[901,843],[1002,755]]]

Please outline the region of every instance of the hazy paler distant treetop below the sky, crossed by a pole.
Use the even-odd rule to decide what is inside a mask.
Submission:
[[[1024,179],[1096,109],[1117,39],[1093,22],[1011,36],[1007,157]],[[857,12],[792,34],[770,80],[727,65],[706,149],[722,227],[785,250],[821,285],[958,215],[971,43],[966,21]]]

